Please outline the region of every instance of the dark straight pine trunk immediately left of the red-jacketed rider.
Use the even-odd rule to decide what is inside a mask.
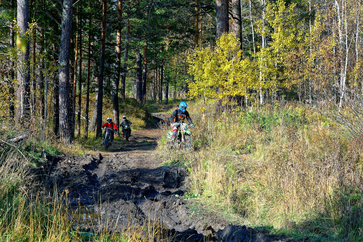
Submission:
[[[103,72],[105,71],[106,12],[107,1],[102,0],[101,58],[99,61],[96,137],[102,137]]]

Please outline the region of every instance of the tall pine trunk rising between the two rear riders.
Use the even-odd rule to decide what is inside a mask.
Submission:
[[[121,31],[122,31],[122,0],[118,0],[118,29],[116,33],[116,63],[115,71],[116,75],[112,83],[112,107],[113,107],[113,118],[114,123],[117,126],[117,134],[120,135],[120,112],[118,103],[118,88],[120,84],[120,73],[121,73]]]

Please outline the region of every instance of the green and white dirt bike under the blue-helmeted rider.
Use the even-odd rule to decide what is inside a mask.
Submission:
[[[182,122],[177,122],[173,124],[174,127],[178,127],[178,133],[175,137],[172,137],[173,132],[167,133],[167,144],[166,149],[170,151],[170,149],[182,149],[183,151],[193,151],[193,143],[192,143],[192,131],[190,130],[193,127],[193,124],[187,124]]]

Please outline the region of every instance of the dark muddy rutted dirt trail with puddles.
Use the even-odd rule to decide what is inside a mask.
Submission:
[[[162,220],[169,228],[167,233],[177,232],[174,241],[203,241],[207,234],[217,241],[290,241],[245,226],[227,225],[212,211],[184,199],[187,171],[160,166],[162,161],[156,159],[160,130],[148,128],[131,135],[129,143],[114,142],[107,152],[49,159],[49,187],[56,185],[73,208],[94,210],[84,212],[79,226],[122,231],[151,218]]]

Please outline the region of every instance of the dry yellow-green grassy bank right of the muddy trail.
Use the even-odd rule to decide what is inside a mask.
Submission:
[[[164,157],[187,165],[191,193],[205,204],[277,233],[360,241],[362,148],[337,124],[294,103],[219,116],[213,104],[188,110],[197,152]]]

